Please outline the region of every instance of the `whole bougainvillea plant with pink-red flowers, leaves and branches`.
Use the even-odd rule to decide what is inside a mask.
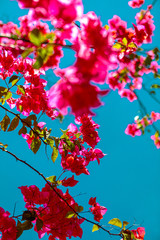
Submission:
[[[89,199],[87,209],[96,222],[83,217],[83,207],[69,194],[68,187],[77,186],[81,174],[90,174],[89,164],[92,161],[100,164],[100,159],[106,155],[96,147],[101,140],[97,131],[100,126],[92,116],[94,109],[103,105],[101,97],[107,97],[112,90],[117,90],[121,98],[130,102],[138,101],[142,108],[142,116],[136,116],[125,133],[140,136],[152,126],[155,132],[151,139],[160,148],[160,135],[155,126],[160,113],[152,111],[149,115],[138,95],[143,89],[159,102],[156,91],[160,85],[152,84],[153,91],[147,91],[144,84],[145,75],[160,78],[159,49],[142,48],[144,44],[152,43],[155,30],[151,14],[153,6],[140,10],[135,23],[128,28],[127,22],[117,15],[103,26],[94,12],[84,13],[81,0],[17,2],[20,8],[29,9],[27,15],[19,18],[19,25],[0,22],[0,108],[5,111],[0,128],[10,132],[21,124],[18,131],[21,140],[26,140],[34,154],[41,144],[46,147],[46,155],[47,147],[50,147],[52,162],[58,155],[61,158],[62,173],[59,177],[46,178],[8,151],[7,144],[0,143],[0,150],[28,166],[46,183],[42,190],[36,185],[19,187],[25,202],[21,215],[13,213],[9,217],[9,212],[0,207],[1,239],[16,240],[24,230],[33,227],[39,238],[44,235],[48,235],[49,240],[81,238],[81,224],[87,221],[93,225],[93,232],[102,229],[122,240],[144,240],[145,229],[130,230],[131,226],[126,229],[127,221],[111,219],[108,222],[111,230],[101,225],[107,208],[100,206],[96,197]],[[143,3],[144,0],[132,0],[128,4],[139,8]],[[73,65],[61,68],[65,48],[74,51],[75,61]],[[45,80],[48,70],[59,78],[50,88]],[[75,117],[77,125],[71,123],[66,130],[61,129],[59,137],[41,121],[43,115],[62,121],[68,113]],[[67,176],[62,177],[63,174]],[[114,227],[118,227],[118,232]]]

